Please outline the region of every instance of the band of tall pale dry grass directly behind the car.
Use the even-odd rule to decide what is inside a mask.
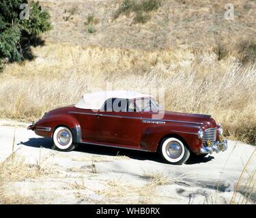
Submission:
[[[39,119],[83,93],[106,89],[165,89],[165,108],[212,114],[225,134],[255,143],[256,65],[214,52],[128,50],[48,44],[34,61],[8,65],[0,80],[1,117]]]

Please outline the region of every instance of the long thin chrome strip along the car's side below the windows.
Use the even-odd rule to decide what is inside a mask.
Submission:
[[[109,116],[109,117],[118,117],[118,118],[127,118],[127,119],[142,119],[141,117],[134,117],[134,116],[119,116],[119,115],[111,115],[111,114],[98,114],[98,113],[89,113],[89,112],[76,112],[76,111],[69,111],[70,114],[87,114],[87,115],[94,115],[94,116]],[[142,120],[149,120],[149,121],[157,121],[157,122],[173,122],[173,123],[191,123],[201,125],[203,123],[197,122],[190,122],[190,121],[175,121],[175,120],[159,120],[159,119],[142,119]]]

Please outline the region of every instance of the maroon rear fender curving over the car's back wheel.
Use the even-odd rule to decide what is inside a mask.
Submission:
[[[53,137],[53,132],[58,126],[66,126],[72,131],[74,142],[81,142],[81,127],[79,122],[72,114],[53,114],[40,119],[35,123],[35,134],[38,136]],[[48,127],[50,130],[42,130],[42,127]]]

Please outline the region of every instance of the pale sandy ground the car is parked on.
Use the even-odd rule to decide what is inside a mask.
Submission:
[[[81,145],[69,153],[53,151],[51,140],[27,131],[27,125],[0,121],[0,161],[12,153],[15,131],[16,155],[25,158],[25,166],[40,166],[44,172],[1,186],[1,198],[25,203],[229,204],[242,169],[255,151],[255,146],[229,140],[224,153],[173,166],[162,163],[154,153],[95,145]],[[255,166],[254,155],[240,181],[236,203],[255,204],[256,188],[244,198]]]

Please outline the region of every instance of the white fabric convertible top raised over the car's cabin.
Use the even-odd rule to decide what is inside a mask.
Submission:
[[[82,109],[99,110],[102,108],[104,102],[106,102],[106,99],[109,98],[135,99],[143,97],[152,97],[152,95],[132,91],[99,91],[83,95],[74,106]]]

